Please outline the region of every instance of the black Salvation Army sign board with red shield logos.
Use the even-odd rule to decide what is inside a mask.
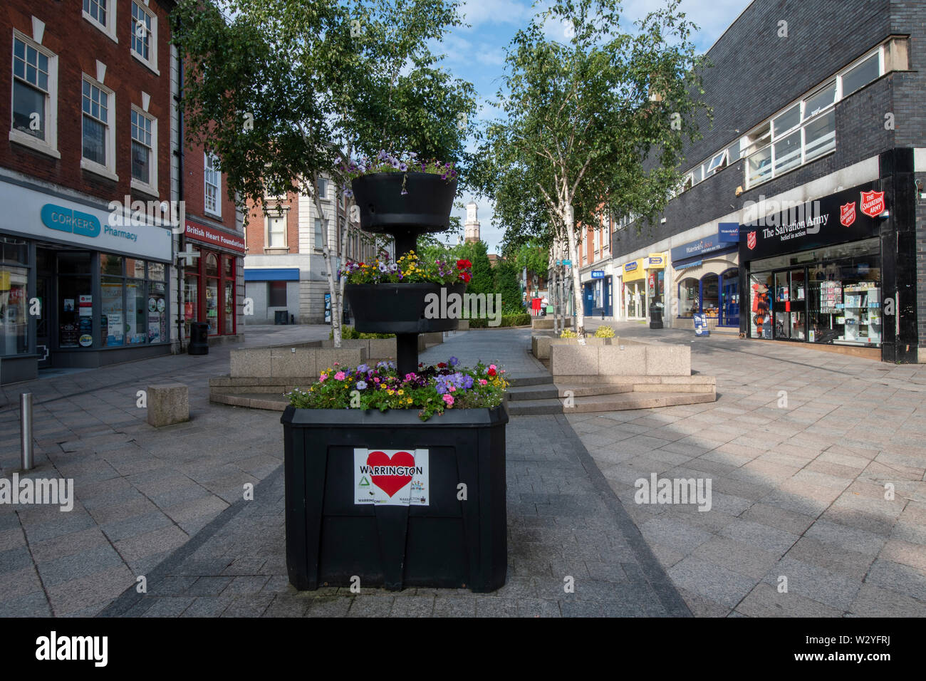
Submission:
[[[884,196],[865,184],[761,216],[742,226],[740,262],[877,236],[882,222],[877,216],[887,208]]]

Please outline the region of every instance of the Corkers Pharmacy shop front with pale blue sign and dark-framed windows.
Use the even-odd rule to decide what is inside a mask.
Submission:
[[[0,201],[0,382],[169,353],[169,223],[6,181]]]

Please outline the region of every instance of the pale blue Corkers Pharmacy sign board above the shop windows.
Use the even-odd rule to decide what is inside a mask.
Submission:
[[[0,203],[5,232],[136,258],[172,259],[169,228],[124,218],[114,225],[106,208],[2,181]]]

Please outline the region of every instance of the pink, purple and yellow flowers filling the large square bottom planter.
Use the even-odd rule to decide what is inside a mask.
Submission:
[[[451,357],[446,362],[400,376],[395,363],[381,361],[375,366],[335,364],[319,375],[308,390],[296,388],[287,393],[296,409],[417,409],[421,421],[448,409],[497,407],[505,399],[505,370],[496,364],[468,369]]]

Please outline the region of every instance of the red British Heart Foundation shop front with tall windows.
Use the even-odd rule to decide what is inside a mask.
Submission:
[[[186,221],[187,251],[183,267],[183,335],[194,322],[206,322],[212,337],[238,334],[238,275],[244,266],[244,239],[202,222]]]

